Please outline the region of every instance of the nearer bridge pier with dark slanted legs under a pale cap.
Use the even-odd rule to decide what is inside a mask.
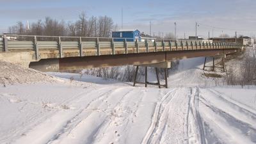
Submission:
[[[161,62],[161,63],[150,63],[150,64],[143,64],[143,65],[134,65],[134,66],[136,66],[136,72],[135,72],[135,76],[134,76],[133,86],[136,86],[136,83],[139,83],[139,84],[145,84],[145,87],[147,87],[147,85],[154,85],[154,86],[158,86],[158,88],[161,88],[161,86],[163,86],[165,88],[168,88],[167,77],[168,77],[168,68],[171,68],[171,62],[170,61],[164,61],[164,62]],[[145,67],[145,83],[137,81],[139,67]],[[148,67],[154,67],[154,69],[156,70],[157,83],[150,83],[150,82],[147,81]],[[164,68],[165,84],[160,84],[158,68]]]

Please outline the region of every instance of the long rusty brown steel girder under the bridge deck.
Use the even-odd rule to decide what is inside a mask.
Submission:
[[[195,58],[200,56],[218,56],[237,52],[236,49],[207,49],[197,51],[164,51],[138,54],[116,54],[102,56],[69,57],[59,59],[60,70],[77,70],[95,67],[113,67],[121,65],[141,65],[163,61]]]

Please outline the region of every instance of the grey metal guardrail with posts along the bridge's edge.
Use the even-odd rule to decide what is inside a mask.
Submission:
[[[15,40],[8,40],[13,38]],[[42,49],[54,49],[60,52],[62,58],[63,49],[79,49],[80,56],[83,56],[84,49],[94,49],[97,55],[100,55],[100,49],[111,49],[115,54],[115,49],[124,49],[125,54],[129,48],[136,48],[139,52],[140,47],[149,52],[149,48],[154,47],[157,52],[158,47],[163,51],[187,51],[200,49],[240,49],[243,45],[230,42],[200,42],[172,39],[155,39],[154,42],[145,40],[145,42],[130,42],[132,38],[104,38],[104,37],[81,37],[81,36],[35,36],[35,35],[0,35],[0,51],[8,52],[13,50],[32,50],[36,53],[36,59],[39,58],[39,51]],[[54,40],[52,40],[52,38]],[[51,40],[50,40],[51,39]],[[64,40],[67,39],[67,40]],[[118,42],[115,42],[118,40]],[[133,39],[132,39],[133,41]]]

